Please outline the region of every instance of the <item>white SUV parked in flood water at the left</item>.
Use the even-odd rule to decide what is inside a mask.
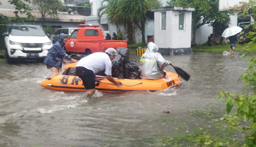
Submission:
[[[40,26],[11,26],[5,35],[8,62],[16,58],[38,59],[46,57],[52,47],[51,40]]]

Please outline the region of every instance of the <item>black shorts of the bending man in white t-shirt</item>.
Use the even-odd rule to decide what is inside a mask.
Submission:
[[[85,89],[95,88],[95,77],[93,71],[84,67],[76,67],[76,74],[83,81]]]

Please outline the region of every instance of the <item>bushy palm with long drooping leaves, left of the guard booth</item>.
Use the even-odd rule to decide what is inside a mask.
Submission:
[[[103,3],[108,2],[107,5]],[[124,26],[128,44],[133,43],[135,28],[139,28],[142,33],[142,43],[145,41],[145,25],[149,20],[154,20],[154,14],[150,11],[153,7],[161,7],[159,0],[104,0],[98,9],[98,16],[107,14],[108,21],[116,24],[118,31],[120,26]]]

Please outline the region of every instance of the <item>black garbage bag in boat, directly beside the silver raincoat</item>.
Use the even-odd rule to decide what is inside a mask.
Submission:
[[[139,65],[138,61],[126,62],[123,66],[123,78],[141,79],[138,65]]]

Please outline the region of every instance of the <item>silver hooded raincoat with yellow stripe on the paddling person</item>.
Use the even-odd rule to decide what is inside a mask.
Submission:
[[[142,79],[157,80],[164,77],[164,67],[169,65],[160,53],[155,43],[149,42],[145,54],[140,58],[139,68]]]

